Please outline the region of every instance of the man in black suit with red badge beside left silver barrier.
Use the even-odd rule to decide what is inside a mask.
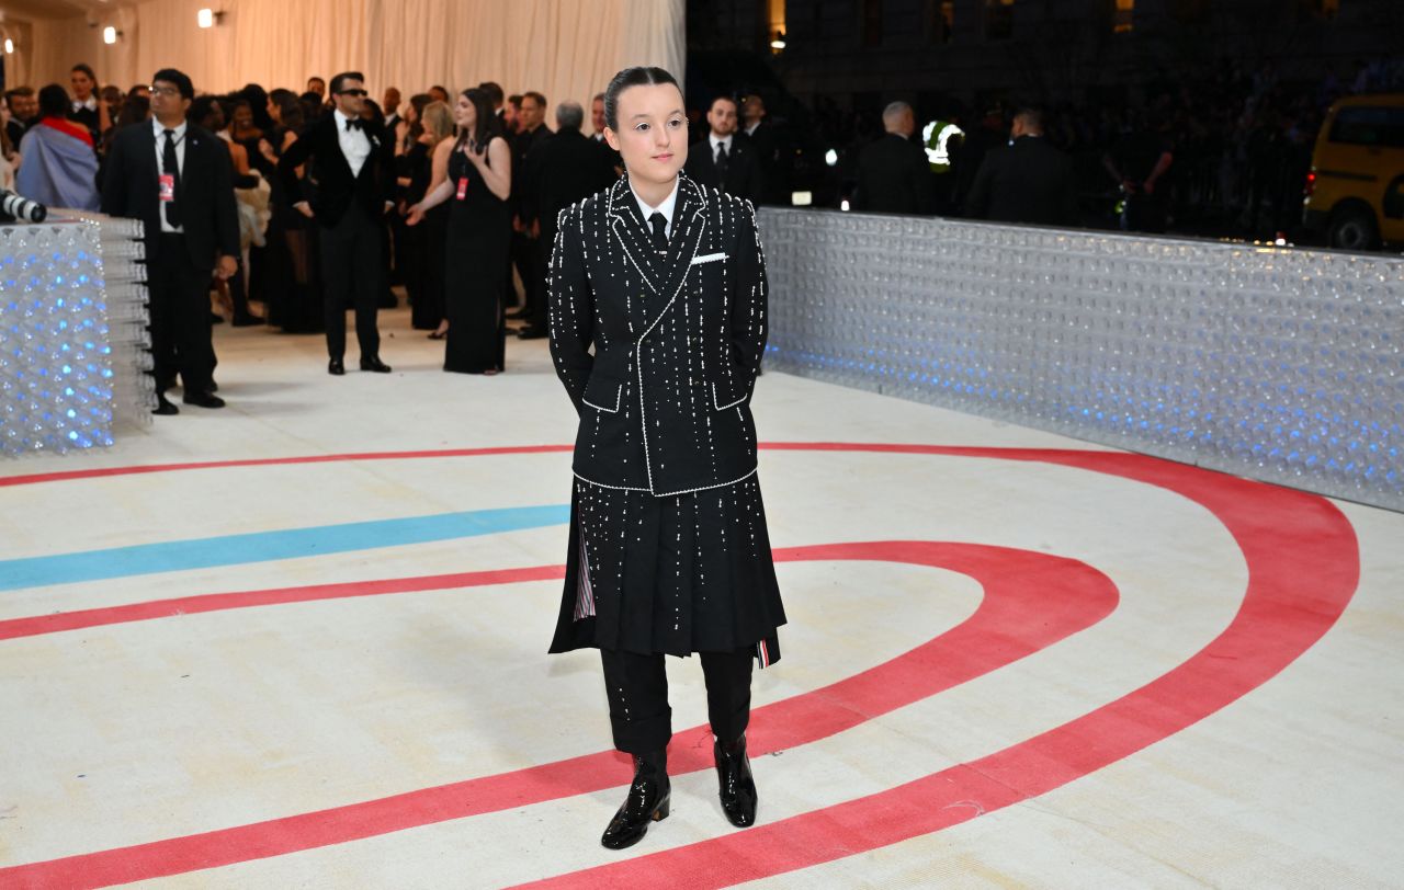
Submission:
[[[177,371],[185,404],[225,406],[209,392],[209,279],[239,270],[239,211],[229,149],[185,121],[194,97],[190,77],[156,72],[152,124],[117,132],[102,181],[102,212],[139,219],[146,229],[157,414],[180,413],[164,393]]]

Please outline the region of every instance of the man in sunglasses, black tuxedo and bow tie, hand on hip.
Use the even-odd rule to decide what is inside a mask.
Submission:
[[[390,372],[380,361],[376,310],[385,272],[382,229],[385,213],[395,206],[393,140],[361,118],[365,95],[359,72],[333,77],[334,111],[322,115],[278,160],[278,175],[292,206],[320,225],[331,358],[327,372],[333,375],[345,373],[347,302],[355,307],[361,371]],[[299,180],[298,167],[303,164],[310,166],[306,178]]]

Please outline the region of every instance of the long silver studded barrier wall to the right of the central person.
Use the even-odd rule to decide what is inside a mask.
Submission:
[[[762,208],[767,369],[1404,510],[1404,260]]]

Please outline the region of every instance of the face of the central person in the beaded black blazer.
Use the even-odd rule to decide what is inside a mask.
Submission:
[[[619,94],[619,129],[605,129],[630,177],[671,182],[688,160],[688,115],[671,83],[640,84]]]

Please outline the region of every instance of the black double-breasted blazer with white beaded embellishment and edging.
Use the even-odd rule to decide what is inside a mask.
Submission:
[[[661,255],[628,178],[557,223],[550,354],[580,414],[576,476],[665,496],[753,474],[767,288],[751,204],[680,174]]]

